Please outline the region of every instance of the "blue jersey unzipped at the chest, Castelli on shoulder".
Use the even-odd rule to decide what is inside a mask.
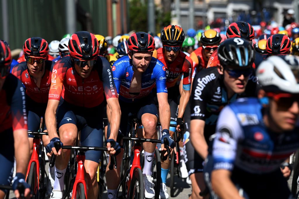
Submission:
[[[166,68],[156,58],[151,59],[147,70],[142,74],[141,90],[139,95],[131,97],[129,88],[134,75],[133,66],[130,63],[128,56],[119,58],[112,66],[113,79],[119,94],[119,99],[124,102],[138,101],[146,97],[152,92],[152,89],[157,87],[157,93],[166,92]]]

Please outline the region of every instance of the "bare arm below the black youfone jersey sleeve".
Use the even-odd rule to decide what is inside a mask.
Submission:
[[[190,132],[190,140],[191,143],[196,150],[196,152],[203,158],[207,158],[208,156],[208,144],[205,141],[205,136],[203,133],[198,131],[191,131]]]

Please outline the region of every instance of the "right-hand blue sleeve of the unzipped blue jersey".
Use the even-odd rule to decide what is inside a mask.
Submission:
[[[166,70],[164,64],[157,60],[157,63],[153,70],[153,75],[156,79],[156,87],[157,87],[157,93],[159,92],[166,92],[167,93],[167,87],[166,87]]]

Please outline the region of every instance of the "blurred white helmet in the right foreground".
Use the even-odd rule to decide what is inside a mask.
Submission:
[[[257,78],[266,92],[299,93],[299,58],[271,56],[257,68]]]

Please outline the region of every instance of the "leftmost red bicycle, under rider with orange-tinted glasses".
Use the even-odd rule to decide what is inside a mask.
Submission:
[[[33,152],[28,164],[25,181],[31,186],[34,199],[44,199],[47,187],[45,186],[45,152],[41,142],[42,135],[48,135],[46,132],[28,131],[33,135]]]

